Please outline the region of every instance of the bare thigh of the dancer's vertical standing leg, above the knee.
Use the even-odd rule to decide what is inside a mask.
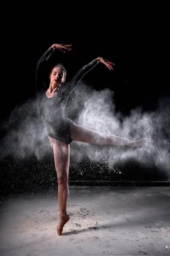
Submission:
[[[70,163],[70,145],[62,143],[49,137],[53,145],[54,162],[57,171],[57,178],[68,178]]]

